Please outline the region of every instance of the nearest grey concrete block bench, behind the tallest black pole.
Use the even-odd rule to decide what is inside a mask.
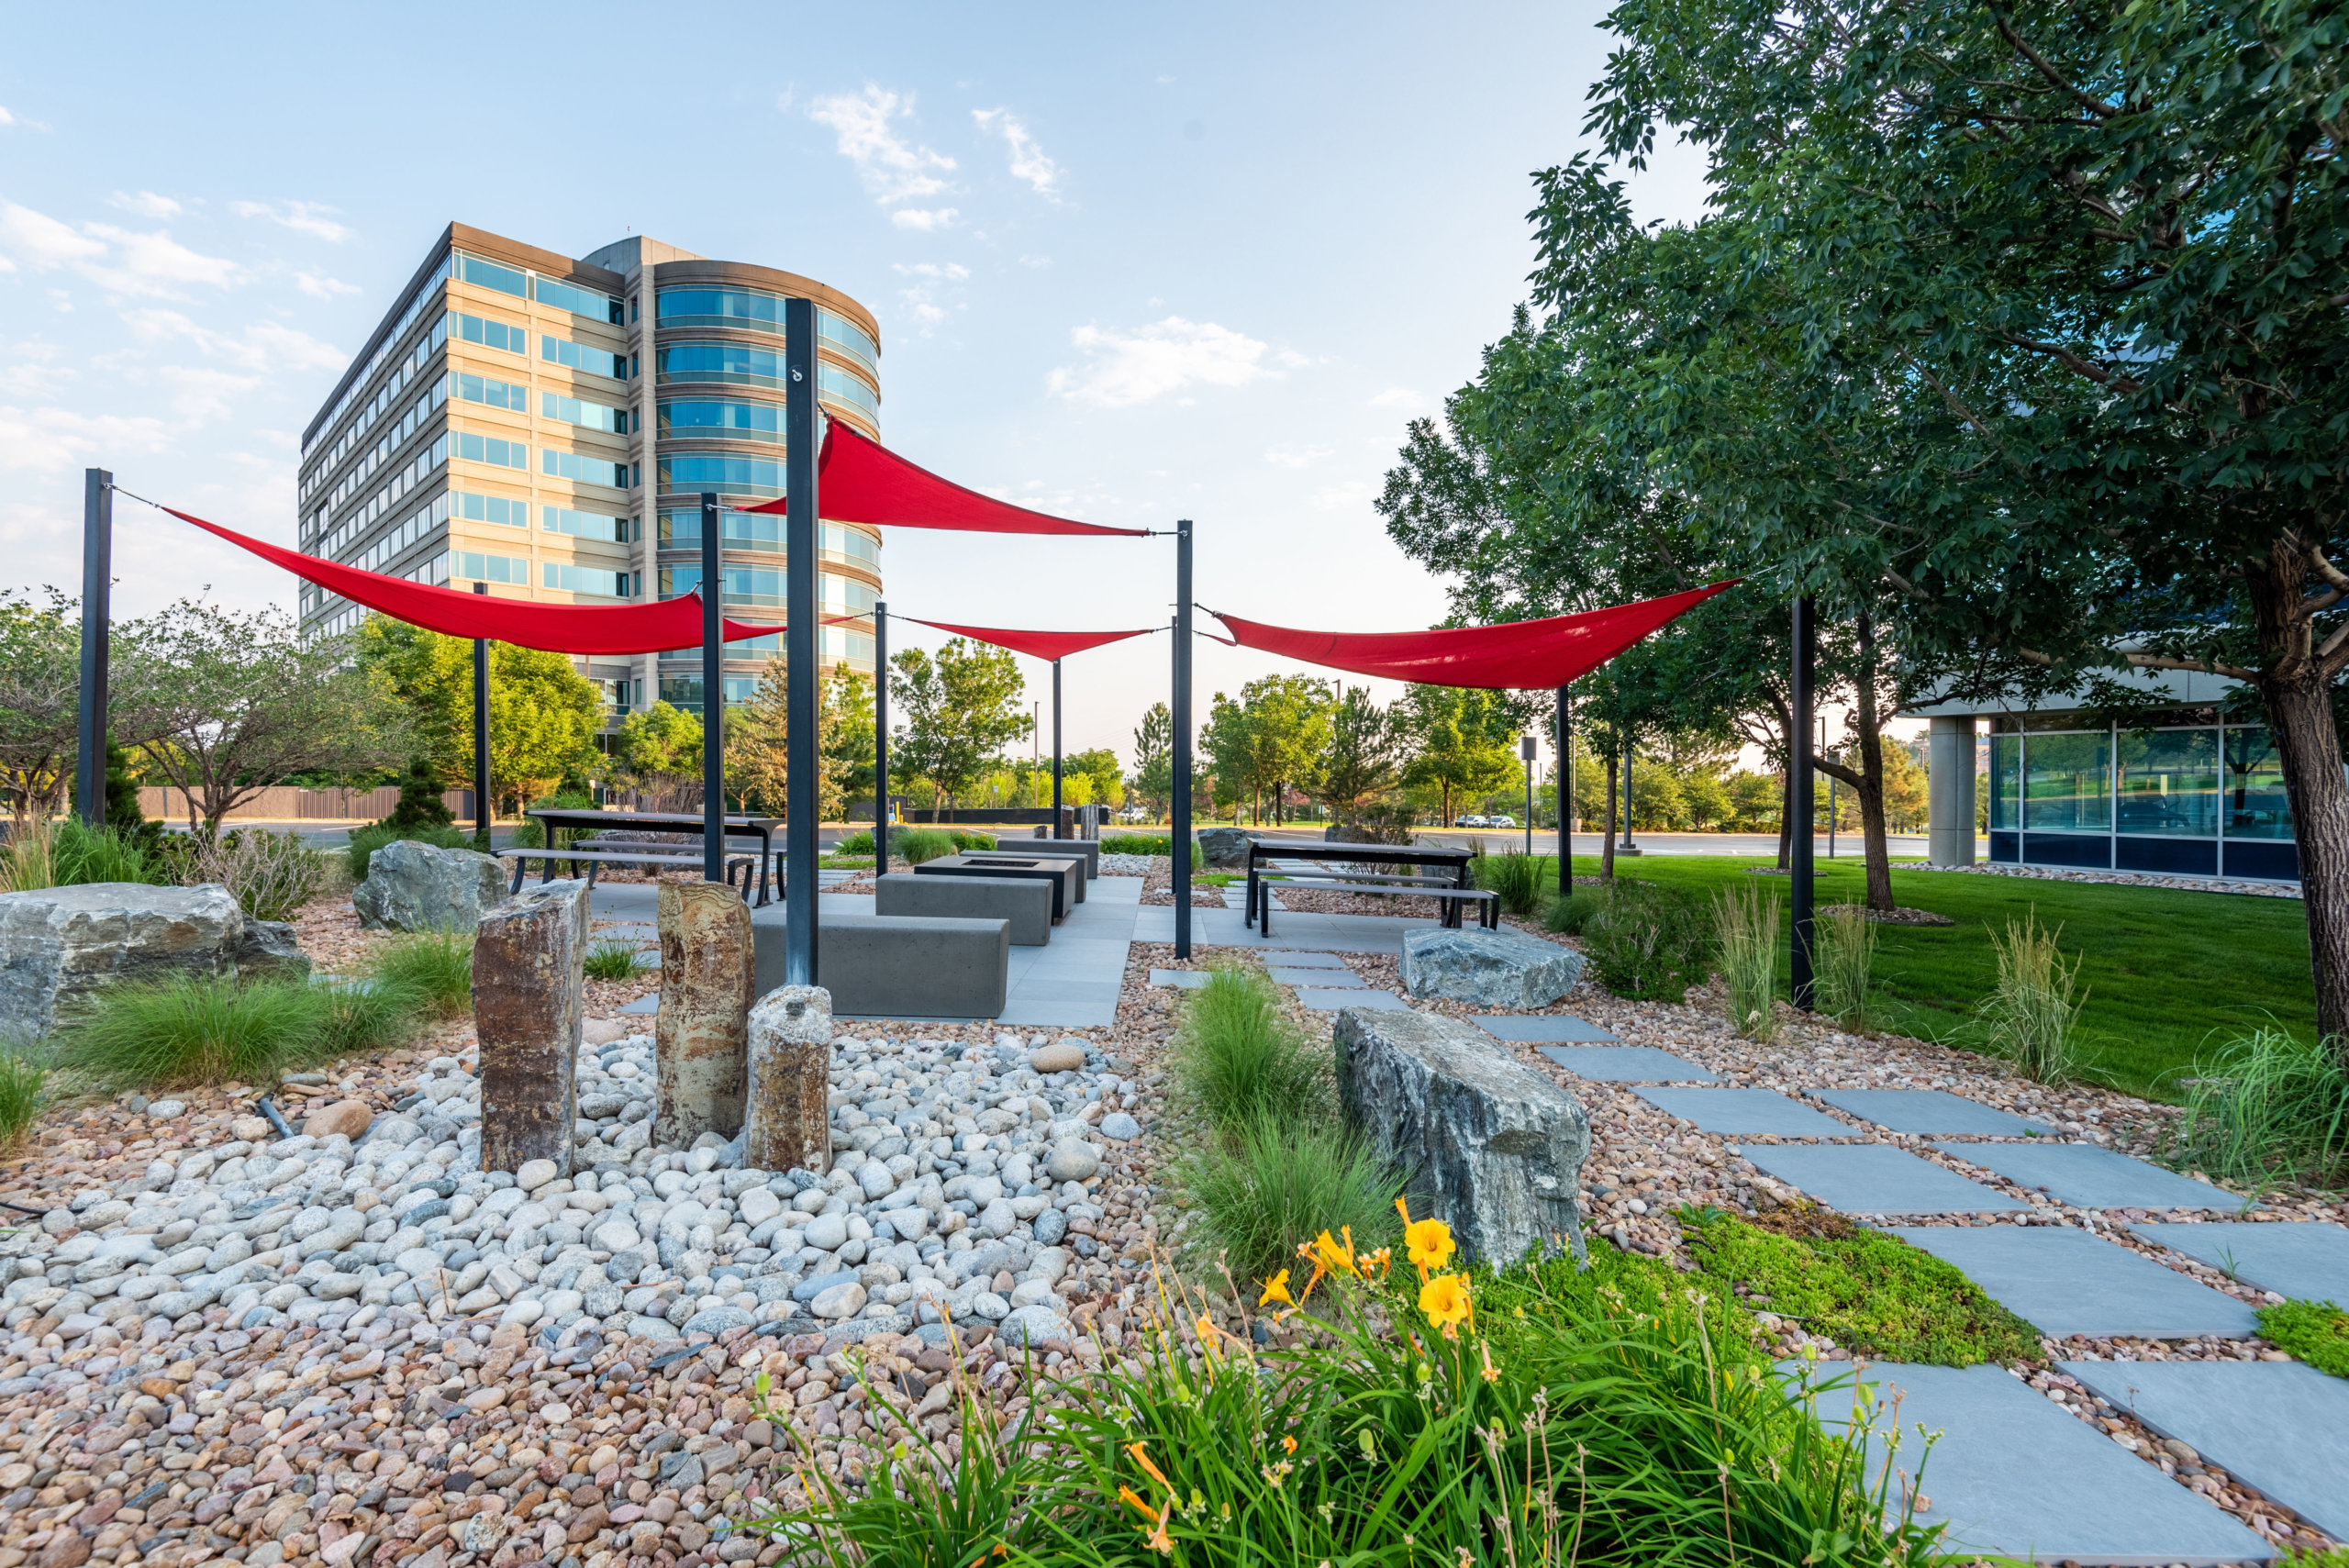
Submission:
[[[780,904],[752,913],[754,993],[785,984]],[[834,1016],[994,1019],[1010,984],[1010,920],[824,915],[815,984]]]

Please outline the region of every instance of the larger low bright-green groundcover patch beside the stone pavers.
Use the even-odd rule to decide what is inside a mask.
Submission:
[[[1722,1211],[1682,1211],[1696,1268],[1755,1312],[1886,1361],[1976,1366],[2039,1354],[2039,1331],[1964,1272],[1900,1237],[1820,1223],[1776,1235]]]

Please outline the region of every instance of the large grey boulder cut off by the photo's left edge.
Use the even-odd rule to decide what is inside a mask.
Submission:
[[[122,981],[308,972],[294,927],[247,920],[218,883],[85,883],[0,894],[0,1021],[35,1035]]]

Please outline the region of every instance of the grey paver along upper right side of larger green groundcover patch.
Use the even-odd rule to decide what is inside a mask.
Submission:
[[[1947,1258],[2001,1307],[2058,1340],[2248,1338],[2260,1329],[2234,1296],[2072,1225],[1893,1225],[1891,1235]]]

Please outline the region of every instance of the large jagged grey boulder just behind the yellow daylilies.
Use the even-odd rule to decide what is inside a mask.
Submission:
[[[1590,1117],[1482,1030],[1433,1012],[1344,1007],[1332,1040],[1346,1120],[1409,1171],[1412,1214],[1473,1261],[1583,1256],[1576,1192]]]

